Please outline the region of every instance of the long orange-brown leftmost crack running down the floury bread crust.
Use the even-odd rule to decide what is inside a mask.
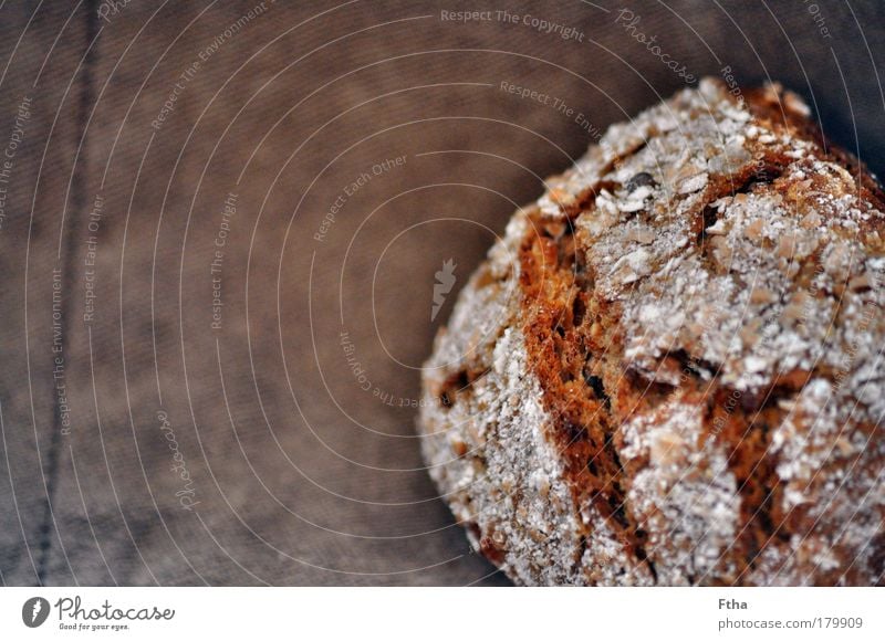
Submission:
[[[598,187],[593,189],[597,191]],[[593,274],[582,263],[573,228],[550,230],[537,211],[529,217],[534,219],[532,230],[541,231],[530,232],[520,248],[522,333],[543,388],[542,402],[554,417],[550,438],[565,462],[575,505],[579,509],[592,505],[597,519],[606,519],[623,554],[633,564],[645,565],[654,578],[645,533],[626,505],[624,471],[613,444],[616,422],[605,392],[606,379],[612,378],[610,364],[620,360],[616,330],[610,333],[616,327],[616,309],[593,296]],[[603,344],[606,336],[613,339]],[[594,526],[581,523],[585,549]]]

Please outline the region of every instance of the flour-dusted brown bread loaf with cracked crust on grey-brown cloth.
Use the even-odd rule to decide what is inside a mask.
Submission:
[[[705,80],[520,209],[423,371],[429,472],[522,585],[881,585],[885,197]]]

